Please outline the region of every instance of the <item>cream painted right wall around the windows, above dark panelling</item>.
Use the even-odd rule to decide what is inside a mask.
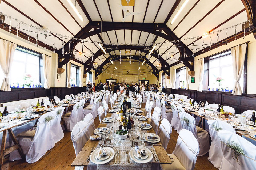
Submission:
[[[255,67],[255,63],[256,63],[256,56],[255,56],[255,54],[256,54],[256,40],[255,40],[253,34],[247,35],[245,37],[245,39],[240,38],[237,41],[232,41],[232,42],[228,43],[227,45],[222,45],[219,48],[215,48],[215,49],[213,49],[209,52],[203,53],[203,54],[195,57],[195,83],[191,83],[191,76],[190,76],[190,78],[189,78],[189,82],[190,82],[189,87],[190,87],[190,89],[197,90],[198,85],[199,85],[199,83],[198,83],[198,80],[199,80],[199,62],[198,62],[198,59],[208,57],[208,56],[213,55],[215,53],[224,51],[226,49],[230,49],[233,46],[245,43],[247,41],[250,41],[248,43],[247,93],[248,94],[256,94],[256,88],[255,88],[255,84],[256,84],[256,80],[255,80],[255,73],[256,73],[256,67]],[[181,66],[184,66],[184,65],[181,63],[179,65],[171,67],[171,76],[173,76],[174,69],[177,69]],[[231,76],[233,76],[233,70],[230,70],[230,74],[231,74]],[[171,81],[171,84],[173,84],[173,81]]]

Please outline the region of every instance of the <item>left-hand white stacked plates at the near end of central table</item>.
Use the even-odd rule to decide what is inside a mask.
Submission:
[[[114,149],[110,148],[110,147],[102,147],[102,149],[106,149],[107,150],[107,155],[106,156],[101,156],[101,158],[99,160],[97,160],[97,155],[99,153],[100,148],[95,149],[91,155],[90,155],[90,159],[91,162],[95,163],[95,164],[105,164],[110,162],[114,156],[115,156],[115,151]]]

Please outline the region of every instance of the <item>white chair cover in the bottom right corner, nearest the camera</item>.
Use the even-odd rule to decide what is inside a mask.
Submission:
[[[256,166],[256,146],[241,136],[229,132],[227,130],[220,130],[218,132],[219,139],[221,142],[236,142],[238,143],[244,151],[245,156],[240,155],[237,159],[233,157],[233,150],[230,150],[224,143],[221,143],[221,149],[223,152],[223,159],[221,162],[220,170],[245,170],[245,169],[255,169]]]

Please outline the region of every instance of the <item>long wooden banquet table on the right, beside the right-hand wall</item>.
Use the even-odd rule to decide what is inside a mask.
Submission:
[[[165,100],[165,102],[171,104],[172,102],[170,101],[167,101]],[[177,104],[176,104],[177,105]],[[183,108],[185,110],[185,112],[191,114],[191,115],[194,115],[194,117],[200,117],[200,121],[199,121],[199,124],[198,126],[202,123],[202,128],[205,129],[205,120],[222,120],[221,118],[218,118],[218,117],[203,117],[203,116],[200,116],[198,115],[199,112],[195,111],[195,112],[191,112],[191,111],[188,111],[186,108]],[[223,121],[223,120],[222,120]],[[234,126],[235,129],[245,129],[241,126]],[[250,135],[248,135],[248,133],[253,133],[253,132],[250,132],[250,131],[247,131],[247,130],[236,130],[236,133],[240,136],[245,136],[247,138],[250,138],[250,139],[253,139],[254,141],[256,141],[255,138],[251,137]]]

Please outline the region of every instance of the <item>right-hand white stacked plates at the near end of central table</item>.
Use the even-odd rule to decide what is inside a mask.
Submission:
[[[138,162],[138,163],[147,163],[147,162],[150,162],[153,158],[153,154],[152,152],[146,148],[146,147],[143,147],[143,146],[139,146],[139,150],[141,149],[145,149],[146,150],[146,155],[145,156],[142,156],[141,159],[138,158],[137,156],[137,152],[135,150],[135,147],[131,148],[130,152],[129,152],[129,155],[131,157],[131,159],[135,162]]]

